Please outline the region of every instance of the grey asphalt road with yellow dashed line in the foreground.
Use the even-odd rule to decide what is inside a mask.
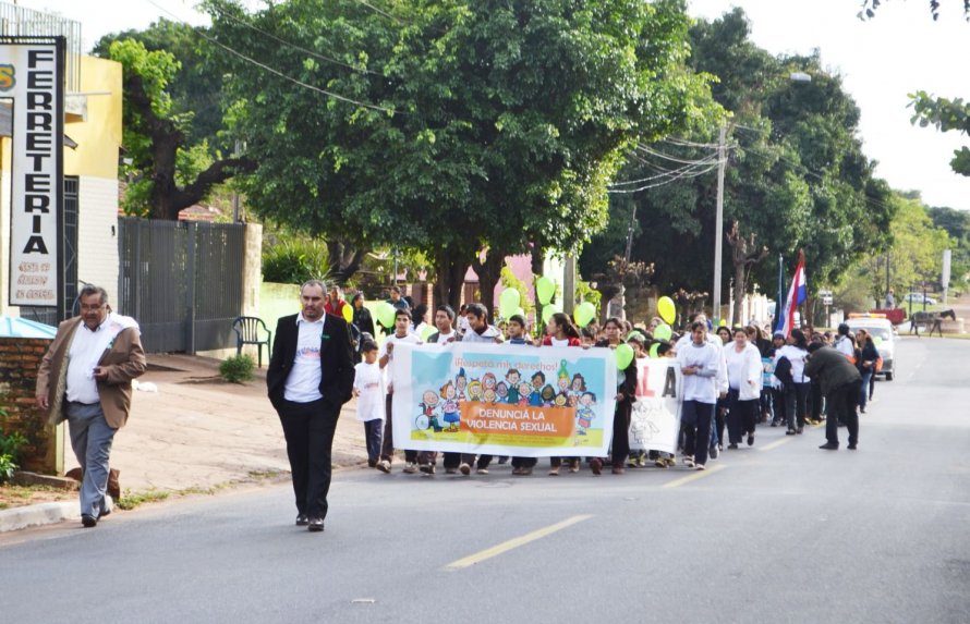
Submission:
[[[970,342],[898,350],[857,452],[766,428],[707,473],[351,472],[324,534],[283,486],[180,501],[3,536],[0,620],[970,622]]]

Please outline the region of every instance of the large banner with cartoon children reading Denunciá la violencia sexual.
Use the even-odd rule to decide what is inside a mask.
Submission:
[[[396,344],[395,448],[606,456],[617,370],[607,348]]]

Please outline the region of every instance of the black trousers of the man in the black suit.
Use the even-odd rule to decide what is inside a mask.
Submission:
[[[310,403],[283,400],[277,414],[287,439],[296,512],[324,518],[330,490],[330,449],[340,408],[323,399]]]

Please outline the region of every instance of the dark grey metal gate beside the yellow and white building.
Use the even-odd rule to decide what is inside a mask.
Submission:
[[[119,311],[149,353],[235,345],[242,314],[245,224],[118,220]]]

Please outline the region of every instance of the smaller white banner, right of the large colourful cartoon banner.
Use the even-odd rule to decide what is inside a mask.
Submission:
[[[674,358],[636,360],[636,400],[630,417],[631,451],[677,451],[683,376]]]

